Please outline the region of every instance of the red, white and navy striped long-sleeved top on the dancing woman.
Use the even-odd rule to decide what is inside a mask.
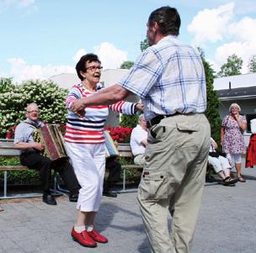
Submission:
[[[96,91],[95,91],[96,92]],[[104,123],[109,115],[109,109],[117,112],[133,115],[136,113],[136,103],[120,101],[111,105],[87,106],[85,117],[77,117],[70,110],[72,102],[78,98],[92,96],[95,92],[88,91],[82,84],[74,85],[67,95],[67,125],[65,141],[77,144],[101,144],[104,143]]]

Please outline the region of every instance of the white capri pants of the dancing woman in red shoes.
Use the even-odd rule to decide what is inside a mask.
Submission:
[[[67,155],[81,186],[77,210],[97,212],[102,198],[105,150],[104,144],[75,144],[66,142]]]

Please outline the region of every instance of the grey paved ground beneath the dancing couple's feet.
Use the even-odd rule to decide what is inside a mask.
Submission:
[[[256,170],[244,169],[243,174],[248,181],[236,187],[205,186],[192,253],[256,252]],[[0,252],[149,252],[136,193],[103,198],[96,227],[109,243],[96,249],[83,248],[72,240],[76,211],[75,203],[67,200],[59,197],[53,207],[40,198],[1,200],[5,211],[0,213]]]

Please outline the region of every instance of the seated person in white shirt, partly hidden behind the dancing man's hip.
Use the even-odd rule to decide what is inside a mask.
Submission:
[[[144,114],[139,117],[136,128],[131,132],[131,152],[134,155],[134,163],[136,165],[145,165],[145,148],[147,146],[147,122]]]

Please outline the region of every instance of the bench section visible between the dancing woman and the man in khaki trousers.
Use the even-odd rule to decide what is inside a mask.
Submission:
[[[131,164],[121,166],[123,170],[123,187],[120,192],[135,192],[136,189],[126,189],[126,170],[143,169],[143,166],[138,166],[133,164],[133,155],[131,153],[130,144],[118,144],[118,151],[119,151],[120,157],[129,158],[132,160]]]

